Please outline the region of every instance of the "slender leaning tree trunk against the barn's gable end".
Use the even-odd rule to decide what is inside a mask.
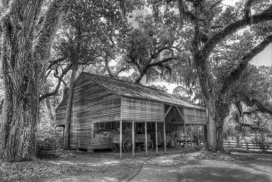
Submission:
[[[63,149],[70,150],[70,122],[71,122],[71,111],[73,102],[74,83],[76,80],[77,64],[73,64],[72,75],[70,78],[70,88],[67,98],[67,109],[65,115],[65,127],[64,127],[64,139]]]

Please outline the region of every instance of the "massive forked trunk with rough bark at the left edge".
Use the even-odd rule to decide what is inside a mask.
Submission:
[[[37,68],[45,67],[48,61],[60,17],[65,11],[60,8],[64,0],[52,1],[54,6],[47,10],[51,24],[44,22],[34,46],[34,27],[42,3],[43,0],[11,1],[1,16],[5,97],[0,116],[0,161],[36,159],[38,93],[45,75]],[[53,19],[58,13],[58,18]]]

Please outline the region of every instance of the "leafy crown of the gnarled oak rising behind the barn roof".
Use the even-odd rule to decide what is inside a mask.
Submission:
[[[164,21],[161,16],[138,16],[138,28],[130,29],[120,39],[118,46],[126,64],[134,71],[135,83],[146,75],[146,81],[154,81],[159,76],[171,73],[168,65],[172,60],[180,59],[173,45],[177,39],[176,20]]]

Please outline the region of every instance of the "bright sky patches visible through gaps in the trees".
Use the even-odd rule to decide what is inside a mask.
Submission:
[[[224,0],[223,3],[226,5],[235,5],[235,2],[237,2],[237,0]],[[144,17],[147,14],[151,13],[151,9],[150,8],[146,8],[144,9],[144,11],[134,11],[133,14],[133,18],[128,18],[128,21],[133,22],[133,26],[134,27],[138,27],[137,22],[134,21],[135,16],[137,15],[143,15]],[[252,61],[250,62],[253,65],[261,66],[261,65],[265,65],[265,66],[271,66],[272,64],[272,43],[270,43],[269,46],[267,46],[261,53],[259,53],[257,56],[255,56]],[[171,84],[171,83],[167,83],[163,80],[157,80],[155,82],[152,83],[146,83],[145,82],[146,77],[144,76],[141,80],[141,84],[143,85],[148,85],[148,84],[154,84],[154,85],[165,85],[168,88],[168,93],[172,94],[173,89],[177,87],[176,84]]]

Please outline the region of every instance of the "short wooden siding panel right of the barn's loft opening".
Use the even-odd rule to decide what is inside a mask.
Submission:
[[[185,124],[207,124],[206,111],[185,107],[184,120]]]

